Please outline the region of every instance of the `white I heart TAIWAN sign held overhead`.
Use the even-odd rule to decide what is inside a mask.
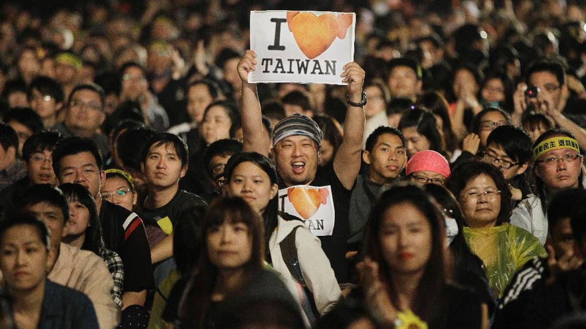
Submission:
[[[251,11],[249,83],[342,83],[354,61],[355,13]]]

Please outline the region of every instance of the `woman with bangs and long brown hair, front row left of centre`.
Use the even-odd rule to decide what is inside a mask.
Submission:
[[[262,221],[242,198],[214,200],[202,233],[196,274],[173,287],[163,312],[169,328],[214,328],[223,301],[263,275]]]

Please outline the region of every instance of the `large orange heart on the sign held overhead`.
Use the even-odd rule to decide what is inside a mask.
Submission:
[[[302,12],[291,21],[291,32],[308,59],[315,59],[328,50],[340,30],[340,22],[331,13],[315,16],[311,12]]]

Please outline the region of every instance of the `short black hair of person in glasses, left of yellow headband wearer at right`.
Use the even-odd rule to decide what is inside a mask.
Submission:
[[[515,126],[496,127],[486,139],[486,146],[490,143],[500,145],[507,156],[523,164],[533,158],[533,143],[527,134]]]

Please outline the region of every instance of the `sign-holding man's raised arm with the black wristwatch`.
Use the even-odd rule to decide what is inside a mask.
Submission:
[[[348,63],[343,67],[343,82],[348,83],[350,101],[362,101],[364,70],[356,63]],[[364,108],[347,105],[344,121],[342,144],[333,159],[333,170],[346,189],[352,189],[356,176],[360,172],[360,150],[364,135]]]

